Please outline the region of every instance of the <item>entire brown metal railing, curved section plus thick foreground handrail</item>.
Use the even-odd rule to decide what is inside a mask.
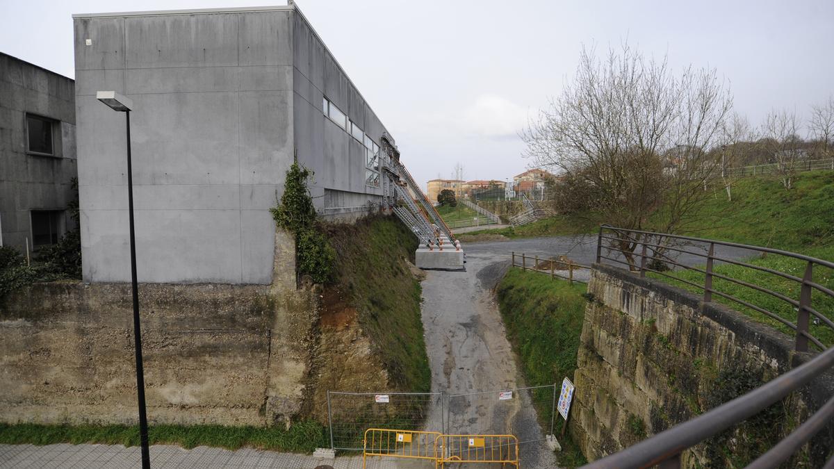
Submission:
[[[606,236],[606,233],[610,234],[610,236]],[[706,246],[707,254],[703,255],[697,251],[680,249],[681,245],[693,244]],[[805,274],[802,278],[799,278],[795,275],[786,274],[779,270],[773,270],[760,265],[751,265],[738,260],[722,258],[716,255],[716,246],[742,248],[757,253],[781,255],[791,259],[801,260],[806,263]],[[640,248],[639,254],[635,254],[637,252],[637,248]],[[608,250],[606,254],[610,254],[612,251],[619,252],[625,260],[602,255],[602,251],[604,249]],[[646,260],[649,257],[647,254],[649,250],[652,252],[651,257],[653,260],[660,259],[665,263],[676,265],[677,267],[681,267],[686,270],[695,270],[702,273],[705,279],[703,285],[691,282],[690,280],[682,279],[681,277],[668,273],[668,271],[654,270],[647,267]],[[699,269],[683,265],[666,255],[666,252],[670,251],[677,251],[678,253],[686,253],[687,255],[703,257],[706,259],[706,268]],[[736,303],[744,305],[747,308],[759,311],[769,317],[779,320],[783,324],[791,326],[793,330],[796,330],[796,350],[806,351],[808,341],[810,340],[823,351],[810,361],[807,361],[805,364],[797,366],[793,370],[788,371],[781,376],[777,376],[775,379],[768,381],[766,384],[756,388],[744,396],[737,397],[736,399],[726,402],[725,404],[718,406],[701,416],[697,416],[690,421],[683,422],[669,430],[662,431],[656,436],[652,436],[651,438],[641,441],[634,446],[629,446],[622,451],[616,452],[610,456],[605,456],[598,461],[594,461],[586,466],[583,466],[585,468],[601,469],[608,467],[651,466],[659,466],[662,468],[680,467],[681,453],[686,451],[686,449],[696,446],[698,443],[701,443],[712,436],[716,436],[719,432],[725,431],[731,426],[756,415],[756,413],[762,411],[767,406],[771,406],[776,403],[776,401],[780,401],[791,392],[805,386],[806,383],[812,379],[821,376],[826,371],[830,371],[834,368],[834,347],[826,349],[825,345],[821,344],[819,340],[816,340],[816,338],[813,337],[808,330],[808,323],[811,315],[816,316],[817,319],[821,320],[829,327],[834,328],[834,324],[831,323],[830,319],[811,308],[811,292],[813,290],[817,290],[818,292],[821,292],[821,294],[829,297],[834,296],[834,291],[831,291],[826,286],[819,285],[813,281],[814,266],[819,265],[831,269],[834,268],[834,263],[783,250],[773,250],[770,248],[742,245],[739,243],[704,240],[689,236],[669,235],[636,229],[620,229],[603,225],[600,227],[597,240],[596,261],[599,264],[604,259],[619,263],[620,265],[627,265],[631,271],[635,271],[641,277],[646,275],[646,271],[650,271],[699,288],[704,291],[703,300],[705,303],[711,302],[712,295],[715,294],[726,298],[727,300],[735,301]],[[780,276],[786,280],[792,280],[800,285],[799,299],[794,300],[786,295],[767,289],[761,285],[754,285],[750,282],[733,279],[729,275],[716,273],[716,271],[713,270],[716,261],[725,262],[731,265],[739,265],[746,269],[758,270],[771,275]],[[771,295],[779,300],[786,301],[789,305],[795,306],[797,315],[796,324],[784,320],[780,316],[762,308],[759,305],[753,305],[748,301],[741,300],[733,295],[717,290],[712,285],[714,277]],[[826,404],[821,406],[821,408],[810,416],[803,424],[801,424],[801,426],[796,427],[790,435],[779,441],[779,443],[777,443],[776,446],[773,446],[771,450],[766,451],[765,454],[759,456],[759,458],[756,459],[756,461],[753,461],[748,467],[761,469],[779,466],[782,462],[790,458],[794,452],[798,451],[801,446],[810,441],[811,438],[819,431],[829,425],[832,418],[834,418],[834,396],[831,396]],[[831,457],[831,459],[827,461],[825,467],[826,469],[834,468],[834,457]]]

